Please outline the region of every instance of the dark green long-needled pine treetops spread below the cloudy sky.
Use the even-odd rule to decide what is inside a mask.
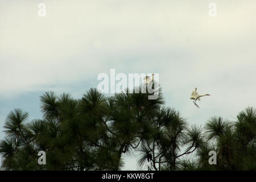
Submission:
[[[76,100],[46,92],[40,97],[43,119],[27,122],[21,109],[7,115],[1,169],[118,170],[123,154],[135,151],[141,169],[256,169],[253,107],[239,113],[236,122],[212,117],[205,127],[189,126],[178,111],[164,106],[160,89],[156,100],[149,95],[126,90],[105,97],[90,89]],[[42,150],[46,165],[38,164]],[[217,165],[209,164],[209,151],[216,151]]]

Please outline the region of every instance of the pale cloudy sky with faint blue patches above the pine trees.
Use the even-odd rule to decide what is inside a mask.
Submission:
[[[0,0],[0,139],[11,110],[42,118],[44,92],[81,98],[112,68],[158,73],[166,106],[189,124],[235,121],[256,103],[255,32],[254,0]],[[211,95],[200,109],[189,99],[195,87]],[[136,156],[124,157],[122,169],[135,170]]]

